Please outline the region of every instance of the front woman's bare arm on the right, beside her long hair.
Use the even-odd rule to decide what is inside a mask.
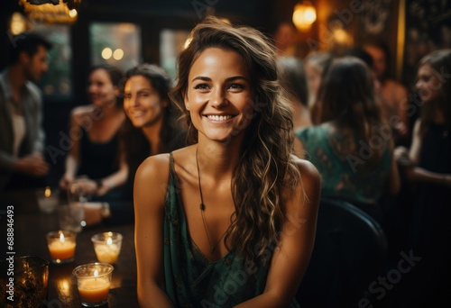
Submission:
[[[320,180],[317,169],[298,159],[301,183],[286,204],[280,245],[273,251],[263,294],[237,307],[288,307],[308,267],[317,229]]]

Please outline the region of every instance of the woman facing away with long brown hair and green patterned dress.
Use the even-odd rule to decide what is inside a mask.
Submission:
[[[350,202],[382,222],[379,199],[396,195],[400,181],[370,68],[355,57],[332,60],[317,104],[319,124],[295,132],[299,157],[318,168],[321,196]]]

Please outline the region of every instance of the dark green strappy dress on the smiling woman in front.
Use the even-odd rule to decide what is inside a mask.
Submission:
[[[175,307],[233,307],[263,293],[269,261],[244,261],[229,251],[215,262],[189,237],[170,153],[170,183],[165,201],[164,277],[166,294]],[[272,251],[269,251],[271,259]],[[294,304],[294,305],[293,305]],[[291,304],[296,307],[295,303]]]

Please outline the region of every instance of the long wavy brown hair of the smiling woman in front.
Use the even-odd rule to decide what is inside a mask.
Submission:
[[[268,38],[250,27],[234,27],[209,16],[193,29],[189,46],[179,54],[178,84],[170,97],[182,109],[189,137],[198,140],[189,111],[183,104],[189,70],[208,48],[234,50],[244,60],[253,85],[253,120],[232,179],[235,214],[226,232],[226,247],[246,259],[262,259],[273,249],[284,222],[284,201],[299,181],[291,159],[293,122],[290,103],[279,84],[276,55]],[[289,189],[287,189],[289,188]]]

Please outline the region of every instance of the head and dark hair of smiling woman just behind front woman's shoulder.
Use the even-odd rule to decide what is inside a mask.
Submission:
[[[143,63],[130,68],[124,77],[124,159],[134,173],[150,155],[167,153],[185,145],[186,131],[177,122],[168,92],[170,76],[160,67]]]

